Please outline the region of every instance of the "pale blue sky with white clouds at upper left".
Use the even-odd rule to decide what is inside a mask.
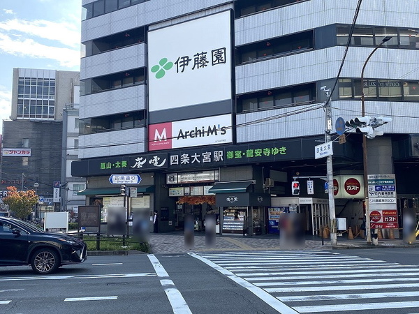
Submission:
[[[13,68],[80,70],[81,0],[1,0],[0,133]]]

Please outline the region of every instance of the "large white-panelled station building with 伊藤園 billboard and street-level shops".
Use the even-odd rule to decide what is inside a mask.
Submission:
[[[416,207],[418,3],[367,1],[358,14],[358,1],[341,2],[83,0],[72,173],[88,177],[87,202],[119,197],[111,174],[140,174],[135,196],[147,201],[135,206],[158,211],[160,230],[215,213],[224,233],[275,232],[277,214],[299,211],[319,234],[328,197],[316,148],[331,128],[337,216],[360,225],[362,135],[348,128],[339,144],[335,121],[362,116],[363,90],[367,115],[392,118],[367,142],[367,172],[395,176],[398,215]]]

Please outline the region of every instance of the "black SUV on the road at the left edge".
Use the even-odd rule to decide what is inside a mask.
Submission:
[[[0,266],[30,264],[38,274],[50,274],[64,264],[84,262],[86,258],[87,246],[80,239],[0,217]]]

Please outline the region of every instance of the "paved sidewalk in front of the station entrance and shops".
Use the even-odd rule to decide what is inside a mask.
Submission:
[[[277,234],[264,234],[262,236],[243,237],[242,235],[217,235],[215,246],[207,248],[205,245],[205,232],[195,233],[194,246],[191,249],[184,246],[183,232],[170,232],[150,234],[149,244],[152,252],[157,254],[185,253],[203,251],[279,251],[279,236]],[[332,248],[330,239],[307,236],[304,250],[332,250],[346,248],[417,248],[419,244],[405,244],[402,239],[379,239],[378,246],[368,245],[366,239],[356,238],[348,240],[346,237],[337,237],[337,246]],[[282,248],[284,249],[284,248]]]

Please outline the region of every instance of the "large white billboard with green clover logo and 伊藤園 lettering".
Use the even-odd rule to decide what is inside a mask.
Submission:
[[[224,11],[149,31],[149,112],[231,99],[230,25]]]

